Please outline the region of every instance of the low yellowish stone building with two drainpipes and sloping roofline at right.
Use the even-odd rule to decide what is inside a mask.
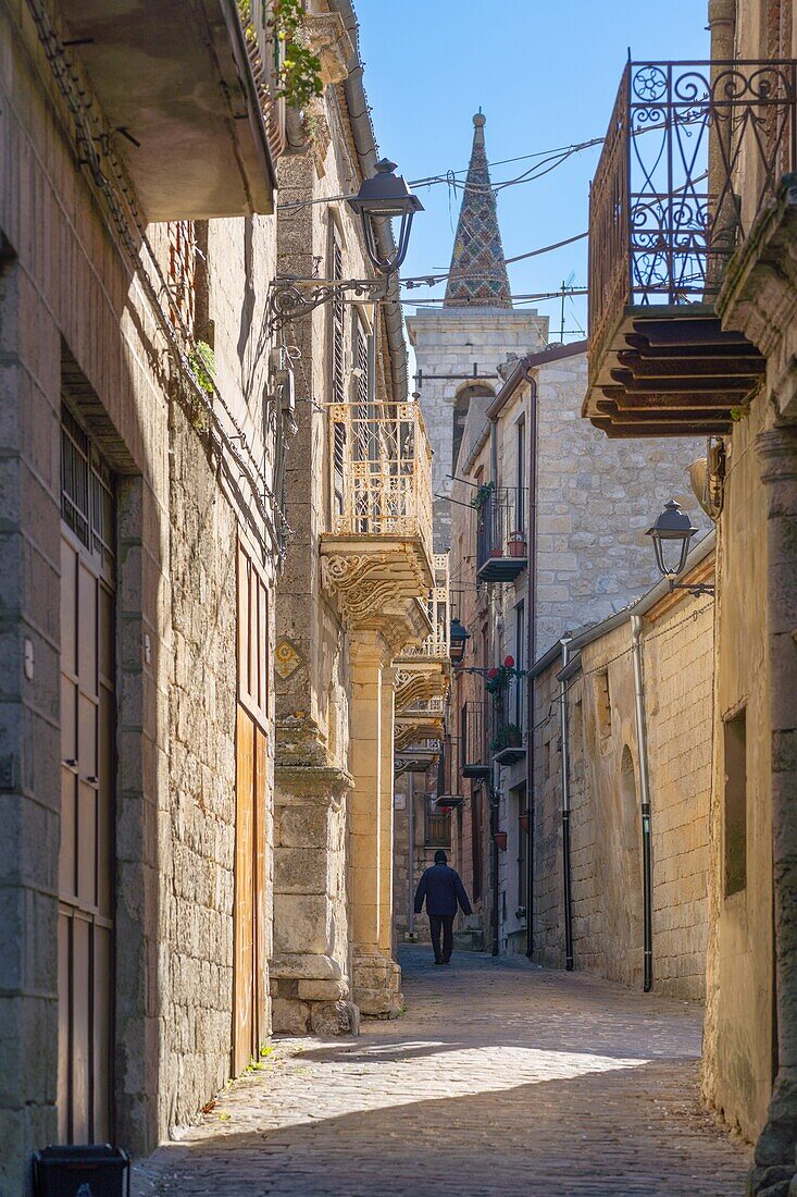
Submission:
[[[713,581],[713,546],[686,582]],[[711,596],[662,581],[535,662],[540,964],[705,1001],[713,639]]]

